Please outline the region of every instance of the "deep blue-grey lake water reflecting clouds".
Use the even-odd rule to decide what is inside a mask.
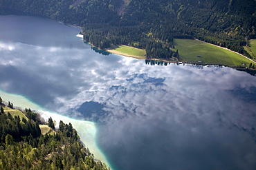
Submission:
[[[91,50],[79,28],[0,16],[0,89],[98,125],[115,169],[256,169],[256,77]]]

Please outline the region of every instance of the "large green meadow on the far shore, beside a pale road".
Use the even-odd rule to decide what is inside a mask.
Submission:
[[[252,61],[221,47],[192,39],[174,39],[175,49],[179,50],[181,61],[192,63],[222,64],[234,67]],[[198,57],[200,56],[200,57]]]

